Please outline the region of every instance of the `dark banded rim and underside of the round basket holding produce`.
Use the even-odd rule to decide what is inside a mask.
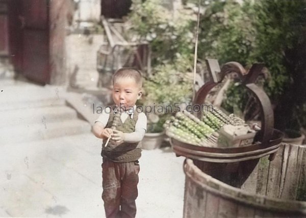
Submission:
[[[194,165],[204,173],[235,187],[241,187],[252,173],[260,157],[277,151],[281,145],[283,133],[274,129],[266,146],[257,143],[247,147],[210,148],[189,145],[170,139],[176,155],[193,159]]]

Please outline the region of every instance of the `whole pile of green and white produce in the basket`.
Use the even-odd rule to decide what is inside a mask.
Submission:
[[[178,141],[206,147],[218,146],[218,131],[224,125],[238,126],[244,121],[235,116],[227,116],[218,108],[203,114],[201,119],[187,111],[176,113],[164,124],[168,137]]]

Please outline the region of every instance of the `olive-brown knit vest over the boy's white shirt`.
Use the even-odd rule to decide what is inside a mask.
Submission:
[[[105,128],[111,128],[113,124],[115,114],[110,113],[109,120]],[[124,133],[131,133],[135,131],[135,125],[138,120],[138,113],[135,112],[133,118],[129,115],[124,123],[121,119],[116,126],[116,129]],[[114,162],[133,162],[141,157],[141,149],[137,148],[138,143],[126,143],[123,142],[120,145],[116,145],[113,140],[110,140],[105,147],[106,140],[103,141],[101,155]]]

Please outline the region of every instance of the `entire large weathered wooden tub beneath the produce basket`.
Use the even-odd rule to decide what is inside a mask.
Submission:
[[[296,200],[306,200],[305,152],[281,145],[273,161],[260,159],[242,188],[207,175],[187,158],[183,217],[306,217],[306,202]]]

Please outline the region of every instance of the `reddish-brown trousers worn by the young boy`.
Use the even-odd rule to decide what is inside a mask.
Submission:
[[[134,218],[138,196],[138,161],[118,163],[103,158],[102,199],[107,218]]]

